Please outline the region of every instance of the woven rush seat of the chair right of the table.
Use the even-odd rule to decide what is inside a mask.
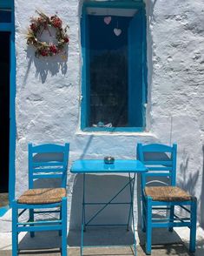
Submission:
[[[175,202],[188,201],[192,198],[178,186],[146,186],[144,190],[153,201]]]

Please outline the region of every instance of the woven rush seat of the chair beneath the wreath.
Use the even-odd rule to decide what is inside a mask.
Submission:
[[[66,197],[65,188],[36,188],[23,193],[17,200],[18,204],[39,205],[53,204]]]

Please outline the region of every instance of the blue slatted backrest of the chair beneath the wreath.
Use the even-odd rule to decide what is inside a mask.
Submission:
[[[66,187],[69,162],[69,143],[65,145],[29,144],[29,188],[36,179],[60,179]]]

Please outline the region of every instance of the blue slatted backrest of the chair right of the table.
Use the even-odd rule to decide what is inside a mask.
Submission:
[[[148,172],[142,173],[141,189],[148,179],[168,178],[167,185],[175,185],[176,176],[176,152],[177,145],[173,146],[150,144],[137,145],[137,158],[148,168]],[[158,181],[158,180],[157,180]]]

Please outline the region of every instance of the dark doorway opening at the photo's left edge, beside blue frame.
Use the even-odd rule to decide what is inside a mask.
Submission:
[[[0,14],[1,17],[1,14]],[[9,187],[10,32],[0,32],[0,192]]]

